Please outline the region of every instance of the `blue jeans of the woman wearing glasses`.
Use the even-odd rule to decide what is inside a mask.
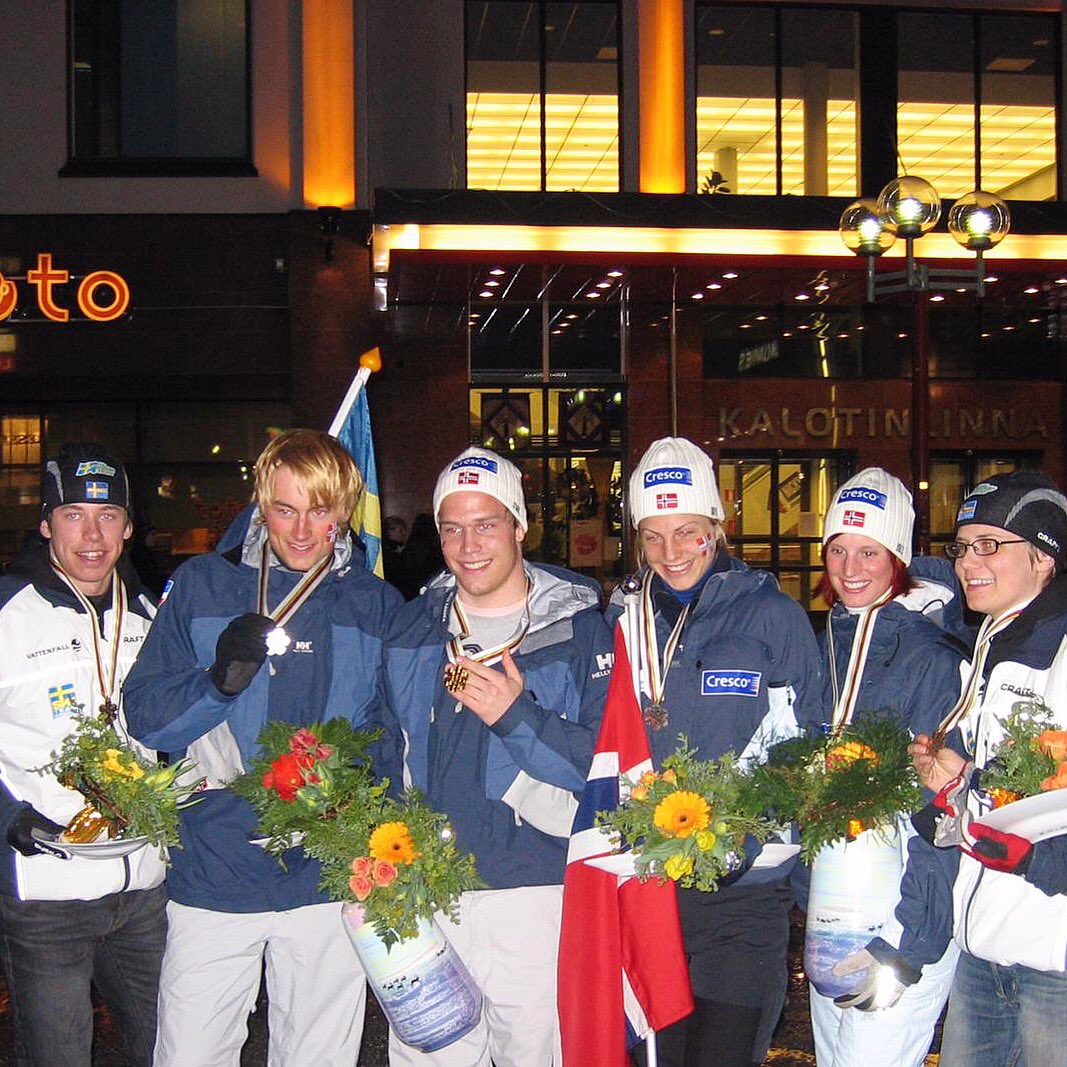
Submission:
[[[1063,1067],[1065,1050],[1067,973],[960,955],[941,1067]]]

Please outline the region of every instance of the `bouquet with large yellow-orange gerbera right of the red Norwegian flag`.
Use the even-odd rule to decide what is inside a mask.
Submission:
[[[775,824],[747,787],[731,753],[698,760],[684,736],[659,773],[646,771],[614,811],[596,813],[612,844],[630,848],[637,875],[712,892],[744,862],[746,837],[763,842]]]

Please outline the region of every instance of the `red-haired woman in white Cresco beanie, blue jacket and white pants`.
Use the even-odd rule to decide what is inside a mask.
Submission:
[[[821,640],[828,731],[877,713],[913,733],[929,732],[955,702],[962,650],[925,614],[942,609],[955,590],[909,574],[913,524],[911,494],[880,467],[860,472],[830,503],[819,587],[830,605]],[[918,1067],[933,1040],[957,950],[949,944],[947,914],[937,921],[918,894],[939,872],[942,885],[949,881],[926,842],[907,832],[902,842],[896,880],[911,853],[904,897],[880,936],[838,965],[870,965],[865,977],[837,1002],[811,988],[819,1067]],[[902,925],[915,933],[902,938]]]

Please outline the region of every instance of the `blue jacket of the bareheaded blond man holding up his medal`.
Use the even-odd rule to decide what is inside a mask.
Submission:
[[[218,552],[178,569],[125,687],[130,732],[172,760],[188,752],[208,776],[204,799],[181,813],[182,847],[171,854],[168,892],[179,904],[212,911],[278,911],[327,899],[318,863],[290,849],[286,871],[250,844],[255,814],[221,786],[250,765],[269,720],[366,722],[382,634],[400,603],[395,589],[364,569],[354,543],[338,541],[333,570],[286,623],[289,651],[265,663],[242,692],[223,696],[208,670],[216,642],[233,619],[256,610],[266,528],[248,524],[248,513],[238,516]],[[271,568],[271,607],[300,576]]]

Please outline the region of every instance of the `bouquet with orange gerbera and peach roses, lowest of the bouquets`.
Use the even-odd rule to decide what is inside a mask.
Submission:
[[[417,792],[399,799],[378,795],[320,819],[303,849],[322,864],[322,889],[363,907],[385,945],[414,937],[435,911],[455,917],[461,893],[481,881],[474,858],[456,848],[446,816]]]

